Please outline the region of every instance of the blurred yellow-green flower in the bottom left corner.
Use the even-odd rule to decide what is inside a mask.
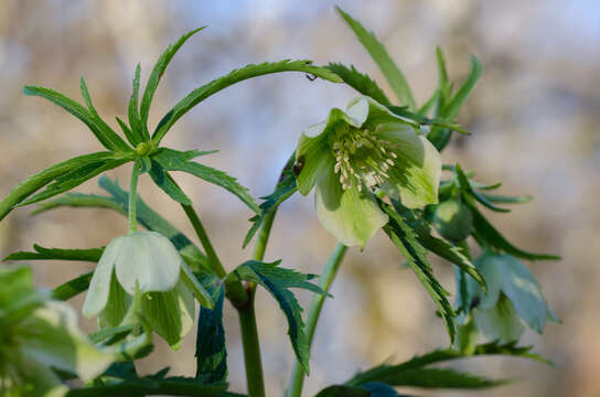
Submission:
[[[88,382],[115,357],[79,331],[75,311],[35,290],[31,269],[0,268],[0,395],[62,397],[68,387],[52,368]]]

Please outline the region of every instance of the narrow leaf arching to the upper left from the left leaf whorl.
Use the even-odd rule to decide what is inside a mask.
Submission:
[[[99,117],[94,117],[94,115],[88,109],[83,107],[77,101],[71,99],[69,97],[57,93],[54,89],[35,86],[25,86],[23,88],[23,94],[34,95],[49,99],[50,101],[58,105],[60,107],[72,114],[73,116],[77,117],[89,128],[89,130],[106,149],[111,151],[130,150],[127,143],[125,143],[125,141],[117,133],[115,133],[115,131],[110,130],[110,128],[106,129],[104,127],[106,126],[104,121],[98,121]]]

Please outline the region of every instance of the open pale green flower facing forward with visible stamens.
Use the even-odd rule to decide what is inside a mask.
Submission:
[[[361,96],[302,132],[298,190],[307,195],[317,184],[319,221],[338,240],[364,247],[388,222],[376,187],[409,208],[438,202],[440,154],[418,129],[418,122]]]

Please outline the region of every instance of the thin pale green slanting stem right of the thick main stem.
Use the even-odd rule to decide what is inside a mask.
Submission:
[[[342,259],[344,259],[344,255],[347,250],[347,247],[341,243],[338,243],[335,246],[335,249],[333,249],[333,253],[329,257],[328,264],[325,265],[325,268],[323,269],[323,273],[319,278],[319,287],[325,291],[329,292],[331,285],[333,283],[333,280],[335,279],[335,275],[338,273],[338,269],[340,268],[340,265],[342,264]],[[309,350],[312,343],[312,337],[314,336],[314,330],[317,328],[317,322],[319,321],[319,315],[321,314],[321,310],[323,309],[323,303],[325,301],[325,296],[322,294],[315,294],[312,298],[312,302],[310,304],[309,309],[309,315],[307,318],[307,342],[309,344]],[[304,371],[302,369],[302,366],[297,361],[293,371],[291,373],[290,383],[288,385],[287,390],[287,397],[300,397],[302,394],[302,386],[304,385]]]

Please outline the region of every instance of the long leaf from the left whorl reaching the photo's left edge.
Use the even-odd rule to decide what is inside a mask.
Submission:
[[[87,163],[93,163],[101,160],[111,159],[114,154],[111,152],[96,152],[84,155],[78,155],[73,159],[60,162],[57,164],[51,165],[36,174],[29,176],[23,182],[19,183],[14,189],[12,189],[8,196],[2,200],[0,203],[0,221],[7,216],[8,213],[12,211],[18,204],[23,202],[31,194],[35,193],[38,190],[42,189],[56,178],[67,174],[77,168],[83,167]]]

